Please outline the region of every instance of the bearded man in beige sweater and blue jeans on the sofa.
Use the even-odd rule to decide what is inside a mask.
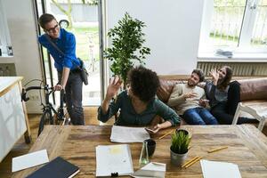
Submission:
[[[174,107],[185,122],[190,125],[217,125],[215,117],[207,110],[205,91],[198,87],[198,83],[204,80],[204,74],[200,69],[194,69],[187,84],[174,86],[168,105]]]

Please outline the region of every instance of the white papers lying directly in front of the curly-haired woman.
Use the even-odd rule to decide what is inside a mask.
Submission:
[[[146,139],[150,139],[150,134],[144,127],[112,126],[111,142],[143,142]]]

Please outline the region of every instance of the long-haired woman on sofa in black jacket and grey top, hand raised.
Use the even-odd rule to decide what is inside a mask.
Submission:
[[[212,81],[206,82],[206,98],[209,100],[211,113],[220,124],[231,125],[240,101],[240,84],[231,82],[232,69],[224,66],[222,69],[213,69],[210,72]],[[239,117],[239,123],[255,122],[246,117]]]

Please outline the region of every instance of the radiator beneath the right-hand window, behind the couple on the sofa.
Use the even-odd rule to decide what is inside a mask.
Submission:
[[[239,77],[264,77],[267,76],[267,63],[249,63],[249,62],[198,62],[198,69],[202,69],[205,76],[209,76],[211,69],[220,69],[223,66],[230,66],[233,70],[233,76]]]

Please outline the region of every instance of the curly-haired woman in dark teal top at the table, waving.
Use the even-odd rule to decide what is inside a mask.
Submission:
[[[165,122],[152,128],[153,133],[157,133],[160,129],[180,123],[174,109],[155,98],[159,86],[156,72],[139,66],[130,70],[127,78],[127,90],[119,93],[116,101],[111,99],[117,94],[122,82],[119,77],[111,79],[106,97],[98,110],[100,121],[108,121],[120,109],[115,125],[150,125],[158,115]]]

